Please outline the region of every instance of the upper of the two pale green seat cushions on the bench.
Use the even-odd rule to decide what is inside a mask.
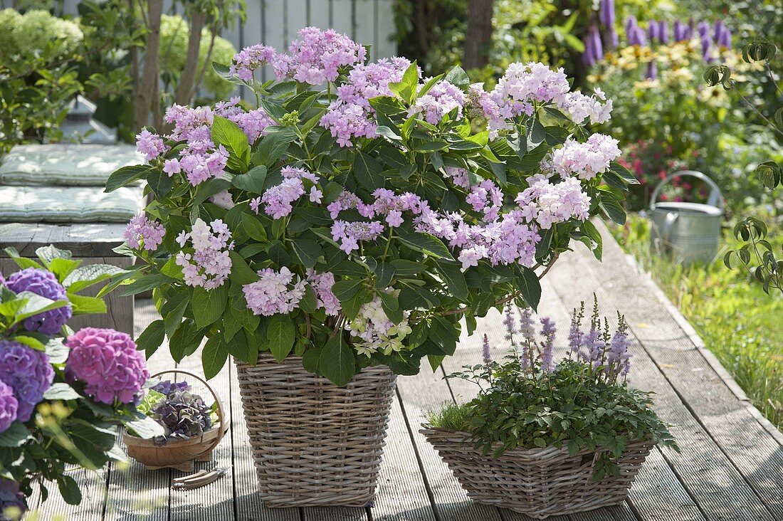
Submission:
[[[62,143],[18,145],[0,161],[3,185],[104,186],[111,172],[144,157],[132,145]]]

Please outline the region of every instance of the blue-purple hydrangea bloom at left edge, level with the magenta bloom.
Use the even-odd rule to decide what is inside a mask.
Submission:
[[[16,419],[20,422],[30,419],[53,380],[52,364],[43,351],[19,342],[0,340],[0,381],[13,389],[18,402]]]

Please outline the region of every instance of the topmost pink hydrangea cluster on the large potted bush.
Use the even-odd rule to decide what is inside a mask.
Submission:
[[[334,81],[340,67],[363,63],[367,57],[367,49],[345,34],[317,27],[301,29],[288,52],[276,57],[278,78],[287,76],[310,85]]]

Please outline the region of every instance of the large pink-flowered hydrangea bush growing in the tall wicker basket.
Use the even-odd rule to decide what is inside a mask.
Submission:
[[[248,47],[214,67],[258,108],[175,106],[171,132],[139,133],[149,163],[107,190],[143,179],[154,196],[128,225],[135,268],[113,284],[153,289],[148,353],[168,336],[179,361],[206,338],[207,376],[259,350],[337,385],[376,364],[415,374],[454,352],[463,317],[472,332],[505,302],[535,308],[572,240],[600,255],[587,219],[622,223],[633,182],[617,142],[586,129],[612,109],[600,90],[514,63],[487,92],[458,67],[421,78],[366,55],[314,27],[286,53]],[[257,81],[262,66],[277,79]]]

